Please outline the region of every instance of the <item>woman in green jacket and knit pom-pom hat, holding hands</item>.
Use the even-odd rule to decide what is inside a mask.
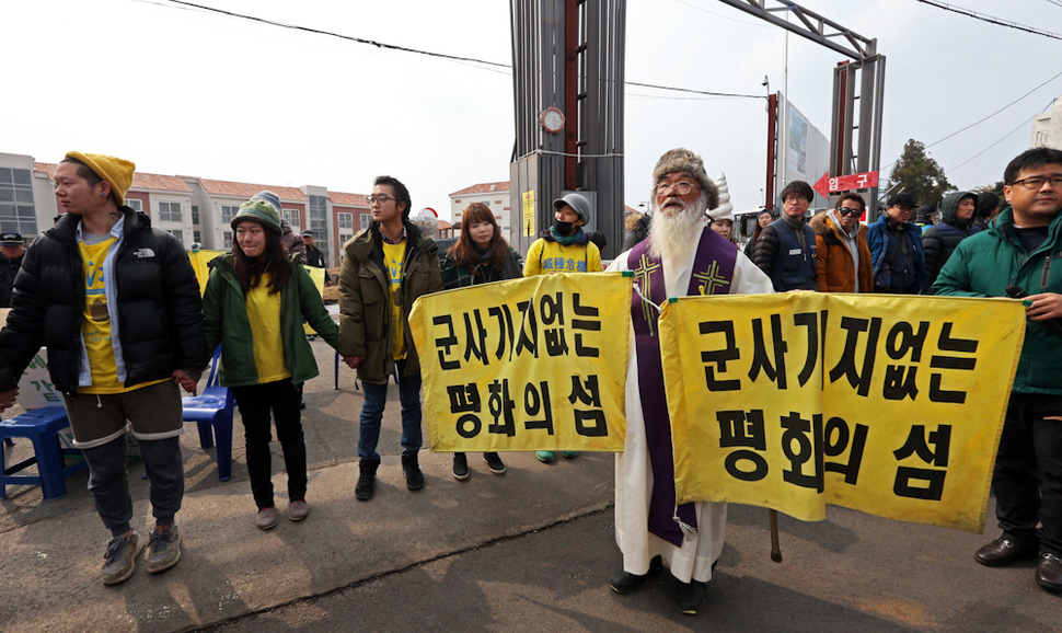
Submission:
[[[280,244],[280,212],[251,198],[230,222],[232,252],[212,260],[203,297],[207,344],[221,344],[221,384],[230,387],[243,418],[255,525],[268,530],[279,513],[273,498],[273,439],[269,414],[288,472],[288,518],[299,521],[310,507],[307,447],[297,384],[318,375],[303,318],[332,347],[338,329],[328,316],[309,273]]]

